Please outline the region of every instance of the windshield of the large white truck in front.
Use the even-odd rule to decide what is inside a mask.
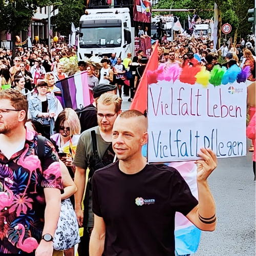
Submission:
[[[121,27],[80,28],[80,48],[121,47]]]

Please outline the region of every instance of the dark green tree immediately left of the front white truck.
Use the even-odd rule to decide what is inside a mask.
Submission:
[[[83,0],[62,0],[57,5],[58,14],[52,17],[52,24],[56,25],[56,31],[61,35],[68,36],[71,31],[71,23],[75,27],[79,25],[79,19],[84,14],[85,6]]]

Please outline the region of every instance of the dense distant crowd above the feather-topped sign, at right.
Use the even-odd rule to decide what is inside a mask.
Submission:
[[[230,47],[223,43],[217,50],[214,42],[206,40],[204,37],[189,39],[186,36],[178,36],[173,42],[162,42],[158,48],[159,63],[179,62],[182,67],[185,65],[201,65],[206,70],[211,71],[214,66],[230,68],[237,65],[241,68],[250,67],[249,81],[255,81],[255,43],[252,40],[241,41]]]

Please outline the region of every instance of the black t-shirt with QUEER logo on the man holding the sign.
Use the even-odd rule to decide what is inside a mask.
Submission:
[[[94,173],[93,212],[105,226],[106,256],[174,256],[175,212],[186,216],[197,199],[179,172],[146,165],[127,175],[119,161]]]

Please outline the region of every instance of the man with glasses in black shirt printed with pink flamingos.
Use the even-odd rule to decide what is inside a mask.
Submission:
[[[26,130],[28,102],[0,91],[0,255],[51,256],[62,181],[53,145],[37,156],[37,134]]]

